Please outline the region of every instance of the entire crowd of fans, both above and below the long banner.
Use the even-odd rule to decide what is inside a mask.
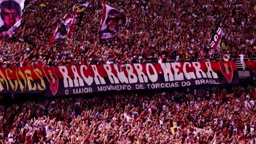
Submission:
[[[0,37],[0,67],[256,58],[253,0],[110,0],[124,14],[108,39],[98,37],[102,1],[88,2],[75,37],[49,45],[78,1],[26,1],[16,34]],[[220,21],[227,46],[212,51]],[[86,96],[0,104],[0,144],[256,143],[255,86]]]

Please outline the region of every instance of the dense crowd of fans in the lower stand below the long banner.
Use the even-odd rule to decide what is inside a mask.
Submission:
[[[250,143],[253,86],[55,98],[0,106],[0,143]]]

